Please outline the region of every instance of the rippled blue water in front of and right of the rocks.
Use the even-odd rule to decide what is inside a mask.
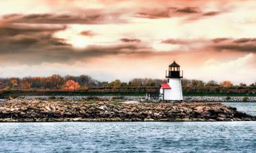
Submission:
[[[256,152],[256,122],[0,123],[0,152]]]

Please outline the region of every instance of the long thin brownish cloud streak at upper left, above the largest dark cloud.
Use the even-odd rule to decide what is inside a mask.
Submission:
[[[104,24],[125,22],[119,13],[106,13],[101,10],[86,10],[80,14],[8,14],[3,22],[30,24]]]

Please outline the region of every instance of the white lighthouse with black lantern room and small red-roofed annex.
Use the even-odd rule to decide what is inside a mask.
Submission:
[[[161,84],[160,87],[160,100],[163,101],[182,101],[182,82],[183,71],[180,71],[180,65],[171,63],[169,65],[168,73],[166,71],[165,78],[168,78],[168,83]]]

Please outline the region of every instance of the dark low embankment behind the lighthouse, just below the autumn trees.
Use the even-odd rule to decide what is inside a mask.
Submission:
[[[184,96],[212,96],[212,97],[255,97],[255,86],[201,86],[182,88]],[[0,98],[20,96],[143,96],[145,93],[158,95],[158,87],[104,87],[88,88],[87,90],[63,91],[63,90],[0,90]]]

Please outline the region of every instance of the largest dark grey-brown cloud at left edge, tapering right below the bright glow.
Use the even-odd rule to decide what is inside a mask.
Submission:
[[[7,26],[7,24],[5,25]],[[116,44],[112,46],[87,46],[73,48],[65,39],[53,37],[57,31],[66,27],[0,27],[0,56],[11,61],[26,64],[66,63],[88,58],[117,54],[150,54],[151,48],[143,44]],[[138,41],[135,40],[134,41]]]

